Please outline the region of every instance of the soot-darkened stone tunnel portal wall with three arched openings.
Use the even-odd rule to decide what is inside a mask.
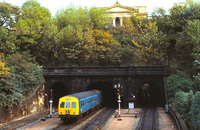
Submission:
[[[129,103],[137,106],[164,106],[167,103],[166,77],[169,66],[128,67],[45,67],[45,92],[53,89],[54,106],[64,95],[98,89],[103,93],[103,105],[118,106],[117,90],[114,84],[123,86],[121,107]],[[142,86],[149,84],[144,89]],[[45,96],[45,107],[49,107],[49,96]]]

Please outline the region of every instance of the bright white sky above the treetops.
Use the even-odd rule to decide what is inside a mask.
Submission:
[[[186,0],[37,0],[41,6],[46,7],[55,16],[56,12],[62,8],[66,8],[70,4],[75,6],[87,6],[88,8],[95,7],[109,7],[119,2],[123,6],[146,6],[146,11],[150,16],[155,7],[163,7],[166,11],[169,10],[174,3],[186,2]],[[194,0],[200,1],[200,0]],[[0,2],[7,2],[12,5],[22,6],[26,0],[0,0]]]

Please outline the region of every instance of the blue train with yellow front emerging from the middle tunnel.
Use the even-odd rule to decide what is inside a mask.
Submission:
[[[66,121],[70,118],[79,118],[83,114],[98,108],[102,102],[102,93],[99,90],[90,90],[66,95],[59,99],[58,114]]]

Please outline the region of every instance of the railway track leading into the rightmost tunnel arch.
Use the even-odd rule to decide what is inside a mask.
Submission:
[[[156,108],[143,108],[136,130],[158,130],[158,113]]]

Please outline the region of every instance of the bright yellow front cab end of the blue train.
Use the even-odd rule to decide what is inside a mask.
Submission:
[[[62,120],[75,118],[79,115],[79,102],[75,97],[62,97],[59,100],[58,114]]]

